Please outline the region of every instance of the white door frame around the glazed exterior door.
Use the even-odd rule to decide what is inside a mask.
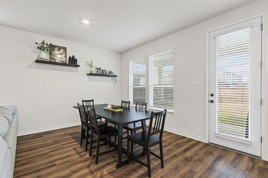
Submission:
[[[256,15],[252,15],[247,18],[243,18],[241,20],[236,20],[234,22],[212,28],[210,30],[206,31],[206,100],[205,100],[205,105],[206,105],[206,130],[205,130],[205,142],[209,143],[209,33],[226,28],[229,26],[233,26],[242,22],[245,22],[247,20],[252,20],[254,18],[261,17],[262,18],[262,24],[263,24],[263,30],[261,31],[261,59],[262,59],[262,69],[261,69],[261,98],[262,98],[262,105],[261,105],[261,136],[262,136],[262,143],[261,143],[261,159],[267,160],[268,161],[268,155],[267,155],[267,102],[268,97],[267,97],[267,83],[268,80],[268,73],[267,73],[267,67],[268,67],[268,60],[267,60],[267,12],[261,12]],[[267,137],[266,137],[267,136]]]

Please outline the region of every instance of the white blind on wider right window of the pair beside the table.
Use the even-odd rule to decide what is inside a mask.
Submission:
[[[149,106],[173,109],[173,49],[149,56]]]

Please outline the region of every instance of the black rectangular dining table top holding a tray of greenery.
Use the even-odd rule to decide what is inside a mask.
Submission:
[[[145,111],[135,108],[123,108],[123,111],[115,112],[104,109],[104,107],[107,107],[107,104],[95,104],[91,105],[90,107],[95,107],[97,117],[102,117],[117,124],[135,123],[139,121],[148,120],[151,117],[151,111]],[[78,109],[78,106],[73,106],[73,108]]]

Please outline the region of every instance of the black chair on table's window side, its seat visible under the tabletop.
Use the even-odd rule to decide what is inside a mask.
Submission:
[[[139,103],[136,102],[135,109],[137,110],[147,110],[147,103]],[[128,131],[130,131],[130,134],[136,134],[136,131],[139,129],[142,129],[141,123],[131,123],[127,125],[123,125],[123,128],[127,130],[127,135],[129,135]],[[126,139],[127,137],[124,137],[123,139]],[[131,142],[131,152],[133,152],[133,142]]]

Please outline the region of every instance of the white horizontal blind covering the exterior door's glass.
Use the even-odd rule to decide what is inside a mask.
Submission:
[[[215,37],[215,135],[250,141],[251,27]]]

